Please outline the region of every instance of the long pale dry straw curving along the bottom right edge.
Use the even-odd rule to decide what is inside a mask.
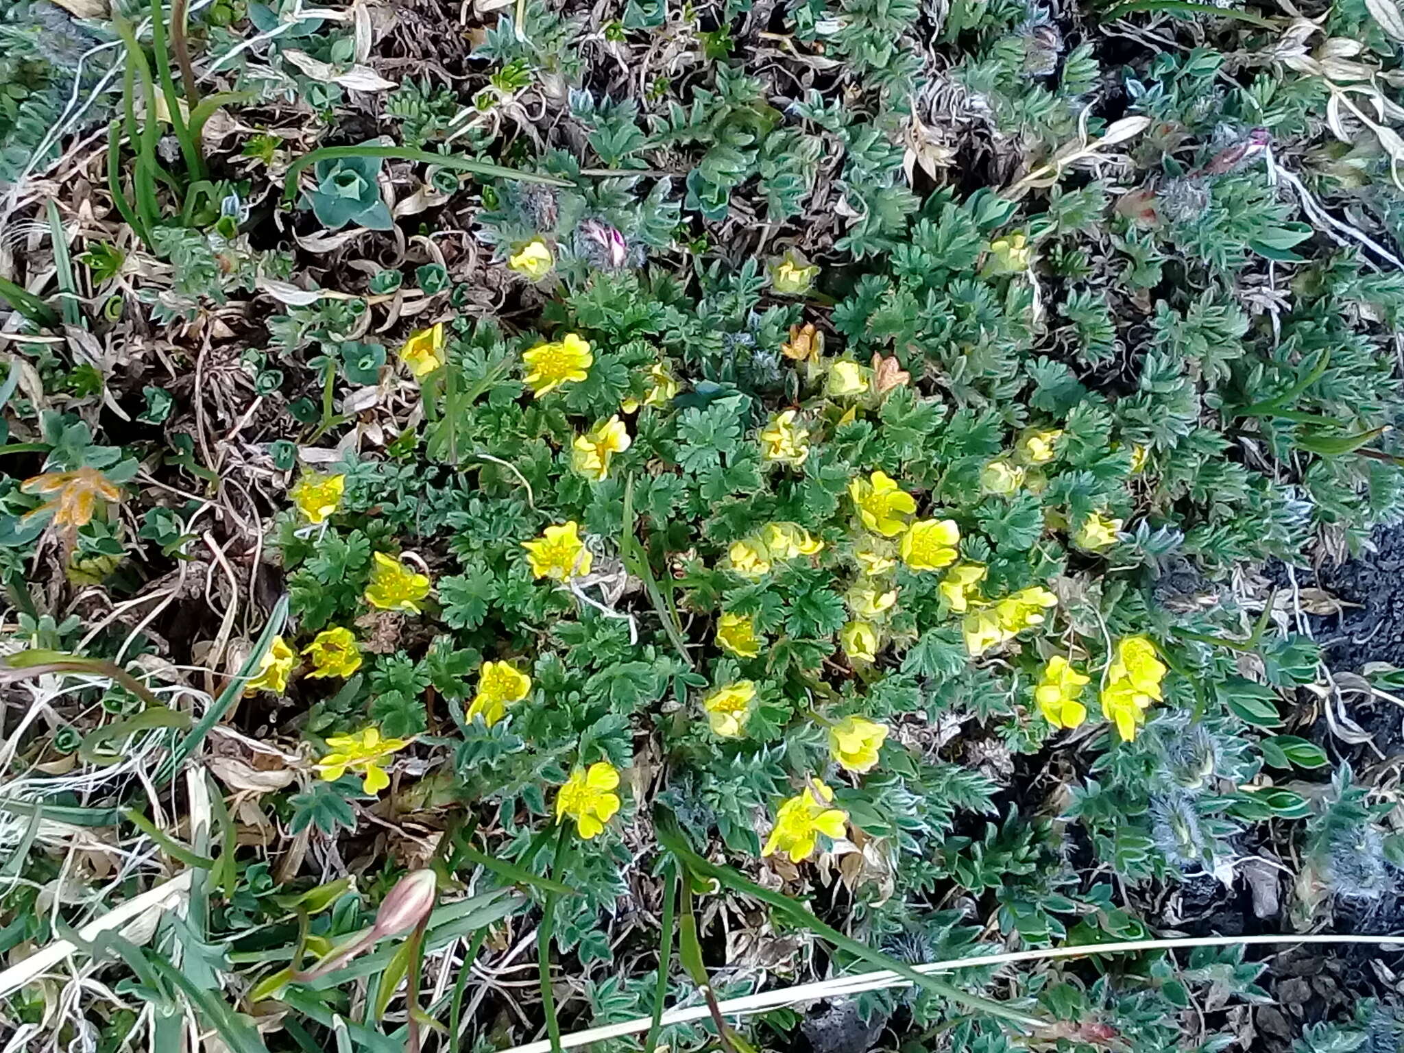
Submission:
[[[931,962],[914,966],[918,973],[945,973],[953,969],[979,969],[981,966],[1009,965],[1014,962],[1042,962],[1053,958],[1085,958],[1088,955],[1119,955],[1133,951],[1167,951],[1174,948],[1196,946],[1261,946],[1275,943],[1369,943],[1379,946],[1383,943],[1398,943],[1404,946],[1404,935],[1362,936],[1362,935],[1283,935],[1283,936],[1177,936],[1172,939],[1130,939],[1122,943],[1088,943],[1084,946],[1042,948],[1039,951],[1014,951],[1002,955],[976,955],[972,958],[952,958],[946,962]],[[885,987],[906,987],[910,980],[904,980],[897,973],[880,970],[875,973],[856,973],[854,976],[840,976],[833,980],[819,980],[816,983],[797,984],[795,987],[779,987],[774,991],[748,994],[743,998],[729,998],[717,1004],[723,1016],[737,1016],[748,1012],[764,1012],[782,1005],[814,1001],[817,998],[834,998],[861,991],[878,991]],[[663,1014],[663,1026],[674,1024],[691,1024],[710,1016],[705,1005],[694,1005],[685,1009],[670,1009]],[[588,1046],[591,1042],[618,1039],[626,1035],[640,1035],[653,1024],[650,1016],[640,1016],[623,1024],[611,1024],[604,1028],[590,1028],[560,1036],[562,1049]],[[528,1042],[525,1046],[512,1046],[507,1053],[550,1053],[550,1042]]]

